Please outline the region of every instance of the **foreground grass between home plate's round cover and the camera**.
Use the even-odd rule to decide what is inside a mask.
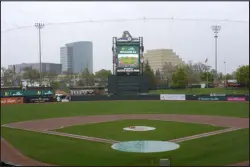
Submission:
[[[3,127],[2,136],[25,155],[57,165],[157,166],[160,158],[171,157],[173,166],[201,166],[249,159],[249,129],[186,141],[178,150],[153,154],[120,152],[112,150],[110,144]]]

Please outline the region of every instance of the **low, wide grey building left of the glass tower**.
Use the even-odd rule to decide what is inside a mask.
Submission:
[[[9,65],[9,69],[14,69],[15,66],[15,72],[16,73],[23,73],[25,67],[31,67],[32,69],[36,69],[37,71],[40,71],[40,63],[22,63],[22,64],[15,64],[15,65]],[[62,65],[57,63],[41,63],[41,71],[42,73],[55,73],[55,74],[61,74],[62,72]]]

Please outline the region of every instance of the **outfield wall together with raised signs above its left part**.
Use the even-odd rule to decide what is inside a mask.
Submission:
[[[71,89],[67,99],[54,96],[53,90],[4,90],[1,104],[48,103],[70,101],[167,100],[167,101],[249,101],[249,94],[133,94],[109,95],[104,88]],[[69,98],[68,98],[69,97]]]

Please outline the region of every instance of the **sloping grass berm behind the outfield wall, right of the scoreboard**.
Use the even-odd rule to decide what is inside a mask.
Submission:
[[[152,94],[249,94],[246,88],[187,88],[187,89],[160,89],[150,91]]]

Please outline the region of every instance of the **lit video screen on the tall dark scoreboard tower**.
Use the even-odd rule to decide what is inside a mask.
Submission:
[[[117,71],[139,72],[140,49],[139,45],[117,46]]]

